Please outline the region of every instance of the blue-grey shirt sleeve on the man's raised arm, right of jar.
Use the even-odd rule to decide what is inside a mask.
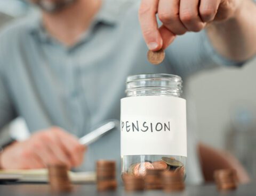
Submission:
[[[245,63],[232,61],[218,54],[205,30],[178,36],[166,49],[166,56],[175,74],[182,78],[202,70],[220,66],[241,67]]]

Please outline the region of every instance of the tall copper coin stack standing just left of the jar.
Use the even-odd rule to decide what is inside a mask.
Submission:
[[[98,191],[115,190],[117,187],[115,161],[99,160],[96,167]]]

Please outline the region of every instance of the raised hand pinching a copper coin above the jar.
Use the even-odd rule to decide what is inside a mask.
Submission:
[[[247,0],[142,0],[139,18],[150,50],[165,49],[175,35],[201,31],[207,23],[232,18]],[[156,14],[162,21],[158,28]]]

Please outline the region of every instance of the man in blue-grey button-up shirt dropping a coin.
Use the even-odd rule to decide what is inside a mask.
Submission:
[[[19,115],[33,133],[4,147],[2,168],[81,165],[85,148],[76,137],[119,118],[127,75],[173,73],[186,80],[199,70],[241,66],[256,54],[251,0],[142,0],[140,8],[132,0],[33,3],[42,17],[18,21],[0,37],[0,127]],[[148,63],[147,50],[161,48],[162,65]],[[200,182],[192,136],[188,130],[187,179]],[[119,148],[119,132],[106,135],[88,148],[83,169],[94,169],[99,158],[119,160]]]

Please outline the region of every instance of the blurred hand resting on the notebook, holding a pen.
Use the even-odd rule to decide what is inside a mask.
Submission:
[[[76,167],[82,164],[85,150],[73,135],[53,127],[5,148],[0,165],[2,169],[35,169],[58,163]]]

